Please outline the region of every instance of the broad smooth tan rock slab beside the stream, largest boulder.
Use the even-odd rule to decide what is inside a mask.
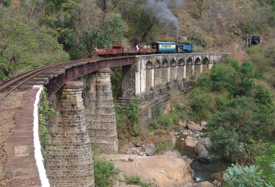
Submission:
[[[127,176],[141,176],[142,182],[151,182],[160,186],[182,186],[193,182],[192,169],[182,158],[131,155],[133,162],[121,162],[116,158],[125,155],[102,154],[102,156],[106,159],[115,158],[112,163],[116,169]]]

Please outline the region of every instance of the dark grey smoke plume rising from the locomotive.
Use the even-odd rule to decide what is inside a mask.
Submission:
[[[178,33],[180,31],[178,19],[169,10],[165,1],[147,0],[144,11],[145,14],[152,12],[160,26],[175,36],[176,41],[178,40]]]

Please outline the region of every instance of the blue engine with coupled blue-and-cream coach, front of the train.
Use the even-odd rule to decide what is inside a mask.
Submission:
[[[156,53],[191,53],[194,50],[194,44],[191,42],[151,42],[152,49]]]

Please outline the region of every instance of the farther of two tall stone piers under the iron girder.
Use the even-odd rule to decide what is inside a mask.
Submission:
[[[115,154],[118,140],[110,75],[111,70],[106,68],[84,75],[81,80],[91,148]]]

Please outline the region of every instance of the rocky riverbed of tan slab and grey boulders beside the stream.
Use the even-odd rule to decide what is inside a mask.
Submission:
[[[173,141],[175,142],[180,135],[185,135],[186,138],[182,140],[185,140],[188,146],[194,147],[198,152],[207,151],[205,146],[209,145],[209,139],[202,140],[199,137],[200,134],[203,134],[201,132],[203,128],[191,121],[188,121],[187,124],[186,122],[179,123],[180,130],[173,132]],[[160,154],[156,152],[153,144],[142,145],[135,142],[130,145],[125,154],[103,156],[114,163],[115,168],[122,172],[120,175],[139,175],[143,182],[150,182],[153,186],[221,186],[221,182],[215,179],[213,183],[194,182],[194,171],[190,167],[193,162],[191,158],[172,150]],[[118,181],[114,184],[114,186],[123,185]]]

